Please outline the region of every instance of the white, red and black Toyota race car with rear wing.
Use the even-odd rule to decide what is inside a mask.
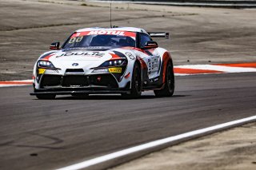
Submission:
[[[61,47],[54,42],[52,50],[38,58],[34,93],[30,94],[38,99],[94,93],[136,98],[144,90],[154,90],[158,97],[172,96],[173,61],[154,37],[168,38],[169,34],[133,27],[76,30]]]

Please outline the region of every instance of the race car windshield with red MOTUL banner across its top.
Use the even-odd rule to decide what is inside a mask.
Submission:
[[[64,49],[69,48],[90,48],[90,47],[135,47],[134,32],[124,31],[86,31],[74,33],[63,46]]]

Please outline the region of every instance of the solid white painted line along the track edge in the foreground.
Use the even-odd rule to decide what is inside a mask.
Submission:
[[[214,132],[214,131],[217,131],[217,130],[220,130],[220,129],[223,129],[223,128],[230,128],[230,127],[233,127],[235,125],[245,124],[246,122],[250,122],[250,121],[256,121],[256,115],[253,116],[253,117],[246,117],[246,118],[243,118],[243,119],[240,119],[240,120],[237,120],[237,121],[230,121],[230,122],[227,122],[227,123],[224,123],[224,124],[214,125],[214,126],[211,126],[209,128],[202,128],[202,129],[198,129],[198,130],[195,130],[195,131],[192,131],[192,132],[186,132],[186,133],[183,133],[183,134],[180,134],[180,135],[177,135],[177,136],[170,136],[170,137],[167,137],[167,138],[164,138],[164,139],[161,139],[161,140],[151,141],[151,142],[146,143],[146,144],[141,144],[141,145],[138,145],[138,146],[135,146],[135,147],[132,147],[132,148],[126,148],[124,150],[121,150],[121,151],[118,151],[118,152],[113,152],[113,153],[110,153],[110,154],[105,155],[105,156],[99,156],[99,157],[96,157],[96,158],[91,159],[91,160],[86,160],[86,161],[83,161],[83,162],[78,163],[78,164],[73,164],[73,165],[67,166],[65,168],[59,168],[58,170],[77,170],[77,169],[82,169],[82,168],[88,168],[92,165],[101,164],[103,162],[106,162],[107,160],[113,160],[113,159],[119,158],[121,156],[127,156],[131,153],[140,152],[140,151],[143,151],[143,150],[146,150],[146,149],[149,149],[149,148],[154,148],[154,147],[160,146],[162,144],[168,144],[168,143],[174,142],[176,140],[182,140],[182,139],[186,139],[186,138],[189,138],[189,137],[202,135],[202,134],[205,134],[207,132]]]

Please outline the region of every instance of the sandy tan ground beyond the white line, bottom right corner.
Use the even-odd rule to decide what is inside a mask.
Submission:
[[[256,123],[153,152],[110,170],[256,169]]]

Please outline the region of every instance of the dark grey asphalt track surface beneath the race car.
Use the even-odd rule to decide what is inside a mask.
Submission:
[[[174,97],[31,97],[0,89],[0,169],[54,169],[198,128],[254,116],[255,73],[176,77]],[[114,164],[112,164],[114,165]]]

